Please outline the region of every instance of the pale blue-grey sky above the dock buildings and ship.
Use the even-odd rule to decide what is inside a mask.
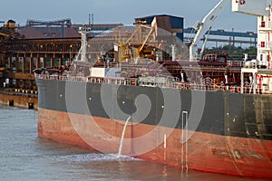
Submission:
[[[15,20],[24,25],[28,19],[52,21],[70,18],[73,24],[132,25],[134,18],[151,14],[170,14],[184,18],[184,28],[194,27],[219,0],[6,0],[0,5],[0,21]],[[231,12],[229,4],[219,15],[213,30],[257,32],[257,18]]]

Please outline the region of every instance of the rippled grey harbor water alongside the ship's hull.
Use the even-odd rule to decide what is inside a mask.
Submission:
[[[0,180],[263,180],[163,166],[37,136],[37,110],[0,106]]]

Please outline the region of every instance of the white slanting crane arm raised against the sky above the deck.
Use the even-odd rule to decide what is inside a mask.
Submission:
[[[209,11],[209,14],[207,14],[201,22],[197,25],[197,33],[192,41],[192,43],[189,45],[189,61],[196,61],[199,59],[199,53],[198,53],[198,45],[201,40],[201,38],[209,31],[211,30],[212,24],[217,19],[218,15],[226,8],[226,6],[230,3],[231,0],[220,0],[217,5],[214,6]],[[203,43],[201,53],[204,50],[204,46],[206,44],[207,39]],[[200,54],[201,55],[201,54]]]

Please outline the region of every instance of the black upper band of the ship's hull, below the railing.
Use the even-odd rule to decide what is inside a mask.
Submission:
[[[81,81],[37,80],[39,90],[39,108],[72,112],[83,115],[92,115],[102,118],[125,120],[116,114],[117,107],[128,115],[136,111],[134,100],[138,95],[144,94],[151,100],[151,110],[148,116],[141,121],[143,124],[157,125],[162,117],[164,105],[163,92],[171,89],[109,85],[100,83],[86,83]],[[103,88],[102,88],[103,86]],[[67,88],[76,90],[76,93],[67,91]],[[112,113],[104,110],[102,102],[103,91],[116,92],[105,94]],[[204,93],[204,94],[203,94]],[[176,129],[182,125],[182,111],[190,114],[192,96],[195,100],[205,95],[204,110],[199,120],[196,131],[233,136],[240,138],[260,138],[272,140],[272,96],[231,93],[227,91],[179,90],[181,105],[180,119],[175,124]],[[103,94],[104,96],[104,94]],[[116,104],[114,99],[116,98]],[[74,106],[69,106],[67,100],[73,101]],[[179,100],[179,99],[178,99]],[[88,105],[83,106],[83,101]],[[169,116],[171,112],[169,113]],[[169,117],[170,118],[170,117]],[[163,122],[161,126],[173,127],[171,119]],[[184,124],[184,123],[183,123]]]

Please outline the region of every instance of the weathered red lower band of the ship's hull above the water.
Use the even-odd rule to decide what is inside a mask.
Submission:
[[[95,126],[102,129],[103,134],[100,134]],[[118,153],[123,127],[124,122],[120,123],[112,119],[39,109],[40,137],[94,148],[104,153]],[[167,128],[160,128],[160,132],[152,133],[152,140],[148,138],[144,142],[137,142],[137,138],[144,137],[153,129],[155,126],[141,123],[128,125],[125,129],[121,154],[205,172],[272,178],[272,141],[270,140],[194,132],[192,137],[182,144],[180,142],[182,130],[174,129],[158,147],[141,153],[141,148],[148,147],[148,144],[161,137],[161,132],[168,131]]]

